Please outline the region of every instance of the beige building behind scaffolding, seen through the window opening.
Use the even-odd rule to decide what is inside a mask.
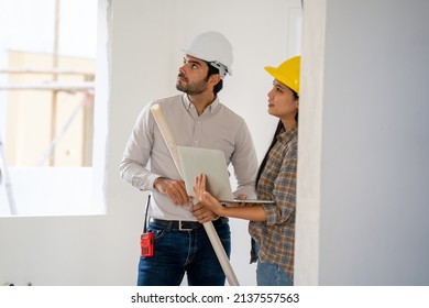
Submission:
[[[61,57],[65,68],[41,68],[52,55],[9,52],[8,58],[10,67],[0,69],[9,80],[0,86],[8,95],[8,164],[90,166],[94,59]]]

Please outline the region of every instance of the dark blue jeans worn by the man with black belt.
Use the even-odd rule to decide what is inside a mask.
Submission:
[[[228,223],[215,226],[223,249],[231,253],[231,232]],[[189,286],[223,286],[226,275],[205,228],[179,231],[151,222],[154,233],[154,256],[141,257],[139,286],[178,286],[185,273]]]

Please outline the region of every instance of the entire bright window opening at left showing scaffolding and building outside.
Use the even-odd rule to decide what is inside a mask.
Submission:
[[[0,2],[3,12],[23,12],[0,33],[0,216],[85,212],[91,195],[97,1]],[[74,14],[82,9],[92,16]],[[51,26],[37,28],[46,19]],[[42,43],[21,36],[18,24],[36,28]],[[92,54],[79,51],[88,40]]]

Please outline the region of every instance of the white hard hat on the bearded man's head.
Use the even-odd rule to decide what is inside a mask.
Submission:
[[[221,33],[208,31],[199,34],[190,45],[182,50],[186,54],[209,62],[219,69],[223,79],[232,69],[232,45]]]

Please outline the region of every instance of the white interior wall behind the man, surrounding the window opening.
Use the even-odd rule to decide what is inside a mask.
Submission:
[[[290,36],[299,38],[300,1],[221,0],[216,8],[207,3],[212,2],[99,0],[96,108],[108,102],[110,116],[96,110],[95,152],[106,150],[106,162],[95,162],[95,168],[106,168],[107,176],[95,178],[95,185],[105,187],[107,215],[1,218],[1,283],[135,284],[145,195],[120,179],[119,162],[143,106],[176,92],[174,79],[183,57],[177,47],[202,31],[221,31],[234,45],[233,76],[226,79],[220,97],[249,121],[263,155],[276,123],[266,113],[272,79],[263,67],[278,65],[299,50]],[[253,285],[246,222],[234,221],[232,229],[232,266],[241,285]]]

